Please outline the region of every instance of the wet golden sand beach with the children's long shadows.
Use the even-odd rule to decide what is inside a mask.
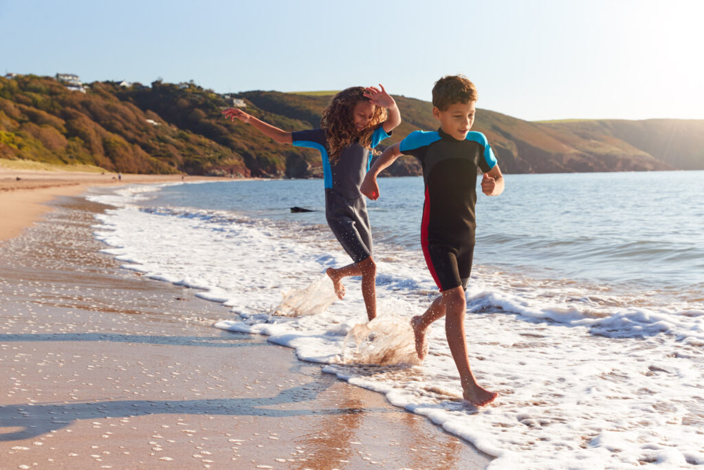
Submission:
[[[293,350],[213,328],[222,304],[99,253],[91,225],[106,206],[80,194],[112,177],[0,168],[0,468],[489,464]]]

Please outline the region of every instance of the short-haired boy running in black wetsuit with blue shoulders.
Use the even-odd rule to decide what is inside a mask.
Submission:
[[[367,172],[360,190],[370,199],[378,199],[379,172],[402,154],[420,160],[425,181],[420,240],[441,296],[424,314],[410,321],[415,350],[420,359],[425,359],[427,328],[446,316],[445,333],[460,373],[463,398],[482,406],[494,401],[496,393],[480,387],[470,369],[465,340],[465,289],[474,252],[477,169],[484,173],[482,192],[487,196],[503,192],[503,176],[484,134],[470,132],[477,102],[474,84],[463,75],[447,76],[435,83],[432,94],[433,116],[439,120],[440,128],[435,132],[416,130],[386,149]]]

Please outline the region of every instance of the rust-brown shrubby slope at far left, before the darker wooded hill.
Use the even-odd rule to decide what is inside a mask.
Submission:
[[[246,171],[232,150],[115,91],[100,82],[82,94],[51,78],[0,78],[0,157],[130,173],[202,173],[215,162]]]

